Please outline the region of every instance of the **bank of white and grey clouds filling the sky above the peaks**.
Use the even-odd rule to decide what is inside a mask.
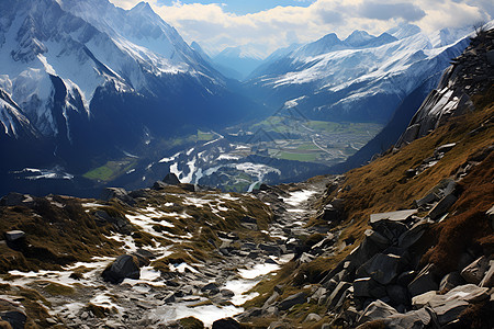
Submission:
[[[139,2],[111,1],[125,9]],[[332,32],[339,37],[353,30],[380,34],[401,22],[431,32],[490,21],[494,15],[491,0],[317,0],[308,7],[279,5],[246,15],[227,12],[222,3],[148,2],[186,41],[197,41],[209,52],[250,44],[265,55],[294,41],[311,42]]]

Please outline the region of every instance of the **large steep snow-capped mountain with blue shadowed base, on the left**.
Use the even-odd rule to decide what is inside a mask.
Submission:
[[[92,156],[221,126],[248,106],[147,3],[0,1],[2,151],[27,138],[46,166],[83,172]]]

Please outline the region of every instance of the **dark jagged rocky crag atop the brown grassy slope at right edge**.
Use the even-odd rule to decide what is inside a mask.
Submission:
[[[442,126],[450,117],[473,111],[471,98],[494,82],[494,30],[481,31],[462,55],[452,60],[438,84],[396,143],[402,147]]]

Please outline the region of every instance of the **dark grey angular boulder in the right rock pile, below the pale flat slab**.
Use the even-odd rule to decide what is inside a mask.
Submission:
[[[386,285],[395,279],[402,270],[402,258],[395,254],[378,253],[359,270],[359,273],[367,273],[370,277]]]

